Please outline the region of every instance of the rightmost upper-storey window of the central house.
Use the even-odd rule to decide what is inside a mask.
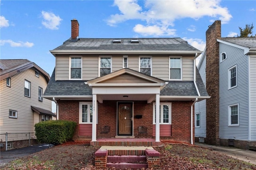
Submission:
[[[170,58],[170,79],[182,79],[181,57]]]

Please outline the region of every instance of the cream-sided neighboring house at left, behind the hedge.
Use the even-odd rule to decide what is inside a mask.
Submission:
[[[52,101],[42,98],[49,80],[48,73],[27,59],[0,60],[0,140],[8,139],[8,149],[32,142],[36,123],[56,119]]]

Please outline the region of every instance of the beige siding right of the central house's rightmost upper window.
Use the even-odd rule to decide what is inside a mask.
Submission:
[[[193,81],[194,76],[194,58],[182,57],[182,80]]]

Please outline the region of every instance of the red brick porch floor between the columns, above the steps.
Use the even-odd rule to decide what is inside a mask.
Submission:
[[[156,142],[152,138],[98,138],[91,141],[92,146],[160,146],[162,142]]]

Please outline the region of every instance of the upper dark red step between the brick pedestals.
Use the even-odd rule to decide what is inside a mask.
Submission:
[[[134,162],[147,162],[147,158],[145,155],[113,155],[113,156],[108,156],[107,157],[107,162],[129,162],[129,163],[134,163]]]

